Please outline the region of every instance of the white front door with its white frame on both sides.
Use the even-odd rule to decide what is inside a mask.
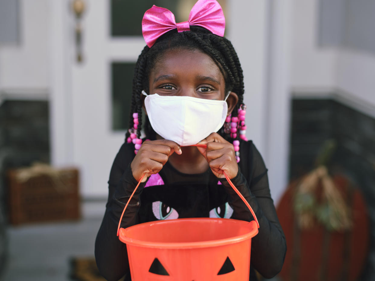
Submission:
[[[107,196],[112,161],[124,139],[124,132],[111,131],[110,61],[135,61],[145,45],[142,37],[109,39],[109,1],[91,1],[83,16],[83,54],[86,62],[75,60],[74,18],[68,0],[51,5],[51,162],[75,165],[81,170],[83,197]],[[94,5],[95,3],[95,5]],[[253,139],[269,168],[270,188],[277,202],[287,184],[290,84],[291,0],[228,1],[231,22],[228,37],[239,54],[245,76],[248,106],[247,137]],[[89,13],[103,13],[90,17]],[[272,20],[271,20],[272,19]],[[272,32],[271,32],[272,31]],[[91,46],[95,46],[92,48]],[[98,55],[98,49],[102,55]],[[126,50],[126,51],[125,51]],[[85,71],[98,68],[96,75]],[[103,79],[98,86],[82,79]],[[129,89],[130,91],[130,89]],[[90,105],[90,99],[99,99]],[[83,115],[86,106],[103,107],[97,114]],[[98,108],[99,109],[99,108]],[[86,118],[86,119],[85,119]],[[98,130],[106,138],[86,140],[86,133]],[[88,142],[93,144],[87,145]],[[89,152],[92,152],[91,158]],[[94,153],[95,152],[95,153]]]

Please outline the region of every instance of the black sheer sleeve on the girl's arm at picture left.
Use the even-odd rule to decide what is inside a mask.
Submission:
[[[117,281],[129,272],[126,245],[117,237],[117,226],[127,200],[137,185],[130,169],[133,148],[124,144],[113,162],[108,181],[108,202],[95,241],[95,259],[100,273],[109,281]],[[121,227],[138,223],[139,197],[145,185],[141,183],[124,213]]]

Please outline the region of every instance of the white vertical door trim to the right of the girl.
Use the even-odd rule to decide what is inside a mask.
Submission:
[[[288,185],[292,10],[292,0],[270,1],[267,151],[264,157],[275,204]]]

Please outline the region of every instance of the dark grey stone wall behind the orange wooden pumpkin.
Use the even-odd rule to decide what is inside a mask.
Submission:
[[[353,180],[367,202],[371,219],[371,245],[364,277],[375,276],[375,119],[332,99],[292,101],[290,178],[314,168],[315,159],[327,139],[337,148],[330,170]]]

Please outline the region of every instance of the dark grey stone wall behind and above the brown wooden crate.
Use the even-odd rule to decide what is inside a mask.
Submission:
[[[6,212],[6,170],[49,163],[47,101],[5,100],[0,105],[0,207]]]

